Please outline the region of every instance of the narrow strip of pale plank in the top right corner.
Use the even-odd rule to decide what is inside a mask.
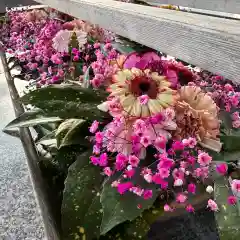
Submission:
[[[142,0],[142,1],[153,5],[172,4],[183,7],[240,14],[240,0]]]

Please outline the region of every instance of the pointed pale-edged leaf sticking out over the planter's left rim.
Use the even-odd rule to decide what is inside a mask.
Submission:
[[[39,110],[28,111],[10,122],[4,129],[8,130],[17,127],[31,127],[42,123],[61,121],[59,117],[46,117]]]

